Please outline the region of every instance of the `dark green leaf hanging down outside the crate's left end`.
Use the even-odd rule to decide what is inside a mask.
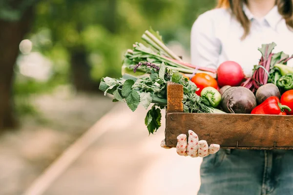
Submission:
[[[155,105],[147,112],[145,124],[149,134],[156,132],[161,126],[161,110],[156,108]]]

